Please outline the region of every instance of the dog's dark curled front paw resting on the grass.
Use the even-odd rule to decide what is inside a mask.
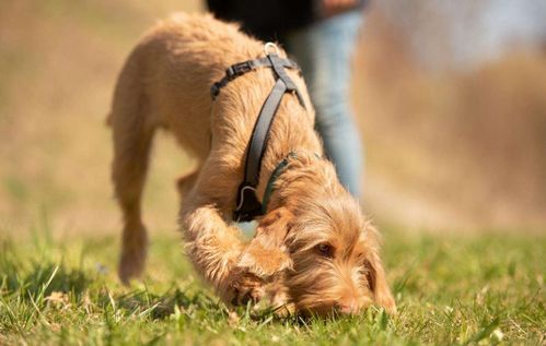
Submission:
[[[231,296],[229,300],[233,306],[244,306],[248,301],[257,303],[266,294],[264,282],[247,271],[235,274],[230,283],[229,291]]]

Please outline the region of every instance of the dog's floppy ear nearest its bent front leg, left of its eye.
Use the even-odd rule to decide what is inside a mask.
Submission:
[[[256,235],[247,244],[239,263],[251,273],[267,278],[292,265],[286,252],[284,238],[293,214],[279,207],[265,215],[256,228]]]

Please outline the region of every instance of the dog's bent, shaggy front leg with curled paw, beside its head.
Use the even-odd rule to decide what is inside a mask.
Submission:
[[[244,249],[241,231],[229,226],[213,204],[183,206],[181,224],[189,259],[225,302],[244,305],[262,299],[262,279],[239,266]]]

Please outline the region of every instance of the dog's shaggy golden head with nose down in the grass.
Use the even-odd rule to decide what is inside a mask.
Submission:
[[[253,240],[259,262],[270,264],[263,274],[282,271],[297,310],[320,315],[355,314],[373,302],[396,310],[377,242],[376,230],[348,193],[310,200],[292,211],[278,207],[262,219]]]

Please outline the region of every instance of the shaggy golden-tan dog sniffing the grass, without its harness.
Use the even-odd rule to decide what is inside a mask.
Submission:
[[[264,55],[264,43],[236,24],[177,13],[144,34],[128,57],[108,117],[112,177],[124,216],[120,279],[128,283],[144,267],[140,202],[154,132],[165,129],[198,159],[197,169],[177,181],[179,227],[189,260],[223,301],[243,305],[268,296],[320,315],[355,314],[372,303],[396,311],[379,232],[323,158],[311,99],[294,70],[287,73],[302,99],[287,94],[280,103],[256,195],[264,196],[279,162],[286,159],[286,168],[253,239],[245,241],[231,222],[248,141],[275,79],[270,69],[256,69],[231,81],[214,100],[209,90],[230,65]],[[286,57],[282,49],[279,55]]]

